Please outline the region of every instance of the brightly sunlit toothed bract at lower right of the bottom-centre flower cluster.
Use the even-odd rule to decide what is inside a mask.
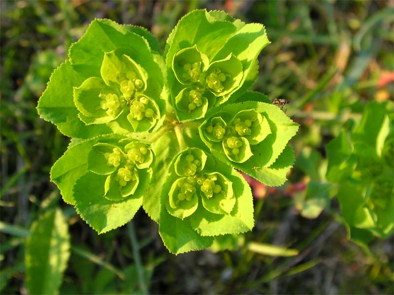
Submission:
[[[240,234],[254,227],[253,196],[249,184],[235,170],[226,176],[232,182],[236,199],[234,208],[230,214],[215,214],[199,204],[197,211],[188,219],[201,236]]]

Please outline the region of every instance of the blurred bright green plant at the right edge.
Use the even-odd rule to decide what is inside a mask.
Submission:
[[[348,235],[363,244],[394,232],[393,110],[392,102],[370,102],[354,132],[326,147],[326,177],[337,183]]]

